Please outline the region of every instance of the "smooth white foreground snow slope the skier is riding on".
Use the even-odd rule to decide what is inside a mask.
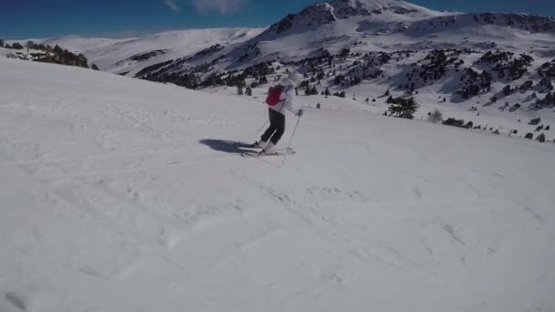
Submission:
[[[2,312],[555,309],[552,144],[0,68]]]

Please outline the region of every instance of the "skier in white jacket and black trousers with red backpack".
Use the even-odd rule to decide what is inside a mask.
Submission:
[[[304,109],[299,109],[295,104],[295,88],[298,86],[300,79],[300,75],[293,72],[287,78],[281,79],[276,87],[270,89],[270,95],[267,99],[270,126],[262,134],[260,141],[256,141],[252,145],[253,148],[261,148],[261,153],[275,154],[278,152],[276,146],[285,132],[285,109],[298,117],[304,114]],[[279,93],[272,94],[276,90]],[[272,96],[279,97],[273,102],[270,99]]]

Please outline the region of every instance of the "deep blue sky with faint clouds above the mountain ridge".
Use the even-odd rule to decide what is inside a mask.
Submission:
[[[0,0],[0,38],[134,36],[164,30],[268,26],[316,0]],[[554,0],[414,0],[464,12],[555,16]]]

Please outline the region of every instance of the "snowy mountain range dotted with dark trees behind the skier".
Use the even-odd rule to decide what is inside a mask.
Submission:
[[[352,99],[349,107],[382,114],[390,95],[413,96],[421,104],[418,119],[440,109],[445,118],[503,135],[555,139],[555,19],[548,16],[336,0],[267,29],[47,43],[81,51],[106,71],[209,92],[248,85],[260,97],[268,84],[299,70],[320,94],[302,99],[309,104],[345,101],[321,95],[330,89]]]

